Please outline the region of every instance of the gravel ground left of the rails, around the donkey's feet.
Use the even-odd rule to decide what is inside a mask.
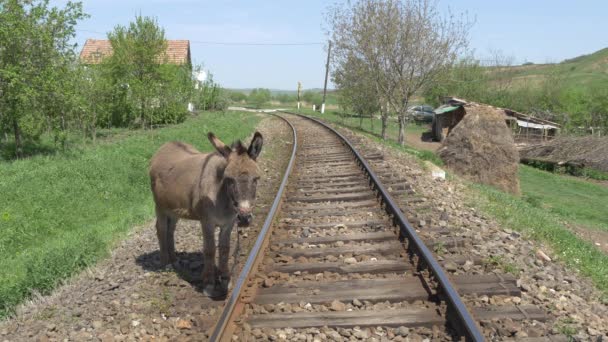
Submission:
[[[291,131],[280,119],[266,117],[257,129],[264,135],[259,159],[264,176],[254,224],[239,232],[236,274],[263,224],[291,152]],[[236,235],[235,229],[232,246]],[[198,222],[180,221],[178,262],[161,269],[154,222],[137,227],[110,258],[0,323],[0,341],[205,340],[224,302],[199,292],[202,246]]]

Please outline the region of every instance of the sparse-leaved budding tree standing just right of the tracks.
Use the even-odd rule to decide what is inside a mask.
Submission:
[[[467,45],[470,23],[444,17],[432,0],[359,0],[331,8],[327,21],[334,69],[351,56],[364,63],[381,101],[397,113],[403,144],[412,96],[449,70]]]

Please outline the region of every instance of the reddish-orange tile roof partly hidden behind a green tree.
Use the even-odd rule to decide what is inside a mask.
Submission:
[[[99,64],[112,54],[112,45],[105,39],[87,39],[80,51],[80,60],[87,64]],[[165,58],[170,64],[192,64],[189,40],[167,40]]]

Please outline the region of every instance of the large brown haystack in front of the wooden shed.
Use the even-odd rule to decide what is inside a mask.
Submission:
[[[477,104],[465,110],[462,121],[443,141],[439,156],[462,177],[519,194],[519,153],[503,110]]]

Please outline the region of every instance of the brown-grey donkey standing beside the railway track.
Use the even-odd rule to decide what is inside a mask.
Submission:
[[[203,229],[203,292],[226,294],[230,274],[230,233],[235,223],[248,226],[258,179],[257,157],[263,138],[255,132],[248,148],[240,141],[225,145],[207,135],[214,153],[201,153],[182,142],[164,144],[150,161],[150,181],[156,204],[156,234],[160,262],[176,261],[173,233],[177,221],[198,220]],[[220,227],[219,263],[215,267],[215,227]],[[219,271],[219,274],[217,274]]]

